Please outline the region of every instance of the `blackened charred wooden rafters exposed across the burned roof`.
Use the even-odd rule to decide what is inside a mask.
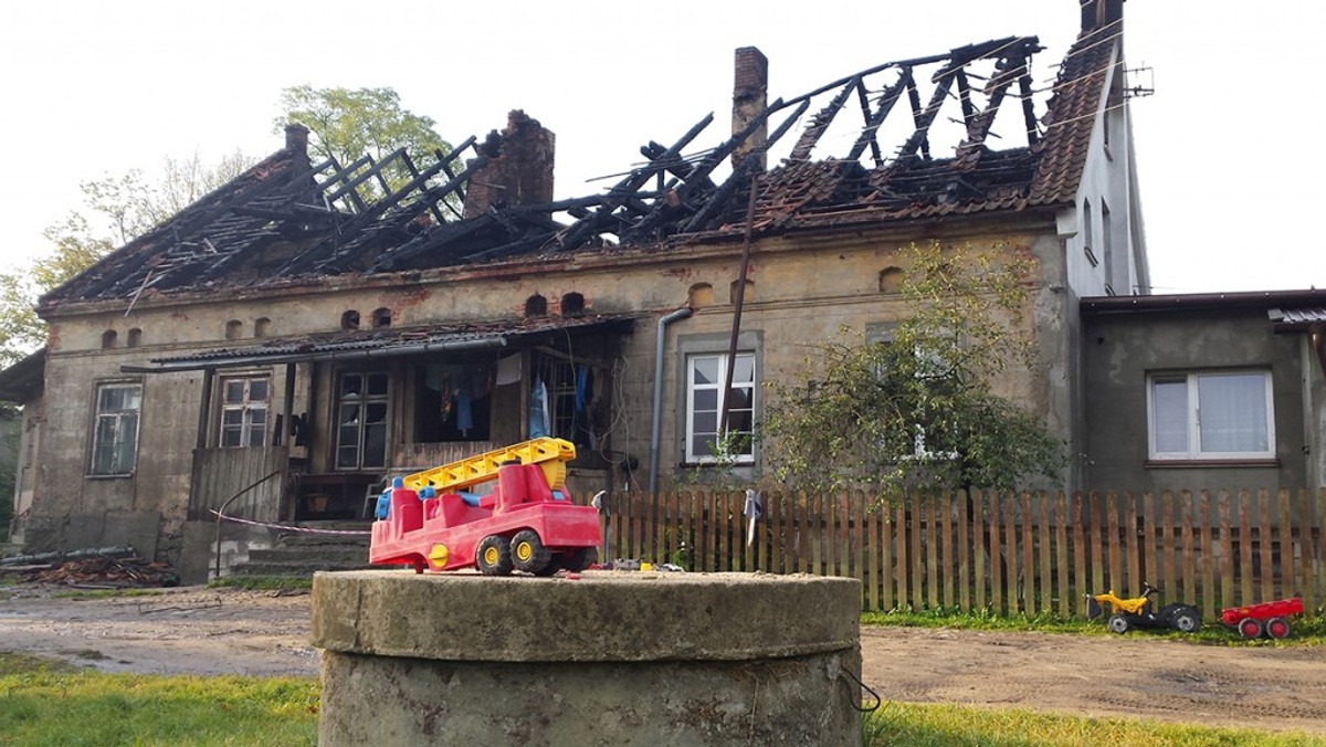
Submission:
[[[760,226],[778,224],[772,216],[777,211],[903,210],[1001,196],[1025,183],[1036,167],[1030,60],[1040,49],[1036,37],[1006,37],[884,62],[802,96],[776,100],[717,146],[692,149],[712,123],[709,114],[670,146],[648,141],[640,147],[644,163],[622,174],[602,194],[500,207],[465,220],[459,219],[456,204],[464,199],[469,178],[495,155],[476,146],[475,138],[450,154],[427,154],[427,162],[416,162],[403,150],[381,159],[366,155],[346,166],[329,158],[233,194],[210,195],[211,202],[191,206],[80,279],[78,295],[137,299],[160,289],[224,284],[251,261],[271,263],[264,257],[273,245],[298,248],[277,260],[272,271],[244,283],[497,261],[617,241],[656,244],[736,230],[747,220],[740,208],[754,183],[784,190],[768,198],[757,195]],[[1010,94],[1021,100],[1025,146],[992,151],[987,142],[997,137],[992,127]],[[910,106],[899,107],[904,98]],[[949,100],[960,107],[960,118],[949,118],[961,125],[964,137],[953,158],[934,158],[932,130]],[[768,149],[802,123],[812,105],[815,114],[804,122],[784,166],[761,176]],[[859,119],[841,117],[850,109],[859,111]],[[896,114],[899,110],[910,113]],[[891,122],[908,115],[910,122]],[[780,123],[765,137],[765,150],[747,157],[725,178],[716,176],[731,155],[772,121]],[[846,129],[851,142],[846,153],[821,153],[830,129]],[[882,133],[899,130],[906,138],[886,151]],[[841,135],[833,139],[842,142]],[[477,158],[467,166],[460,158],[469,150]],[[829,166],[809,169],[817,159]],[[809,170],[776,176],[798,166]],[[391,190],[389,172],[407,174],[408,179]],[[138,245],[151,251],[129,251]]]

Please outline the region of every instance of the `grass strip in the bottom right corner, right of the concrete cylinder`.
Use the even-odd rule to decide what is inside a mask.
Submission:
[[[1322,746],[1301,732],[1215,728],[1152,719],[1083,718],[1021,709],[886,703],[862,720],[865,747],[914,746]]]

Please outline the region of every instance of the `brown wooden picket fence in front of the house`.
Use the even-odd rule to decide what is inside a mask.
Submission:
[[[1225,606],[1326,601],[1326,487],[1315,491],[1071,494],[973,491],[879,500],[863,492],[605,496],[603,559],[687,571],[849,576],[862,609],[1086,614],[1085,593]]]

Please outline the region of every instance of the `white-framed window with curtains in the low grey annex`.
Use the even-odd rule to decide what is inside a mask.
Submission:
[[[1276,455],[1269,372],[1155,374],[1147,410],[1151,459]]]

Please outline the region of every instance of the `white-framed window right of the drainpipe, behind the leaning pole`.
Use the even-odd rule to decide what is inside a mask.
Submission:
[[[727,353],[690,356],[686,360],[686,460],[717,462],[719,426],[723,419],[723,385]],[[754,353],[737,353],[732,369],[728,411],[727,456],[739,463],[754,462]]]

